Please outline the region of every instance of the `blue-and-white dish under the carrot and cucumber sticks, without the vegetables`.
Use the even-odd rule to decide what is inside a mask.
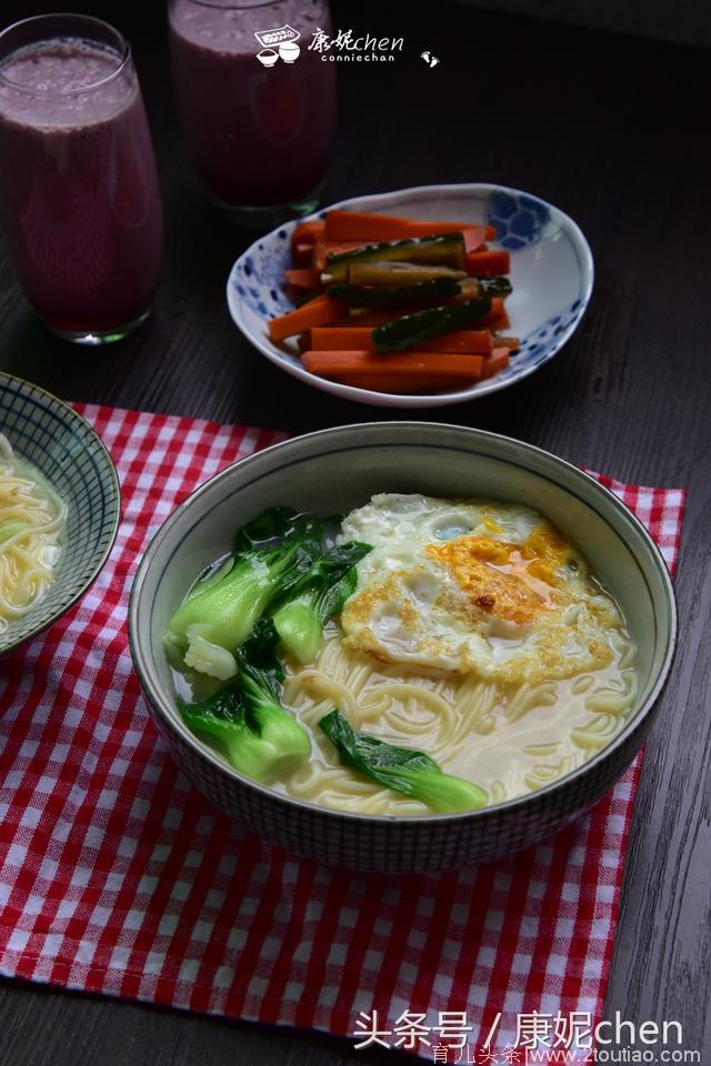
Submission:
[[[274,344],[268,333],[269,320],[293,306],[283,288],[283,272],[290,265],[289,238],[297,223],[288,222],[260,238],[237,260],[227,284],[228,306],[244,336],[267,359],[324,392],[391,408],[434,408],[485,396],[528,378],[552,359],[572,335],[588,306],[593,265],[581,230],[558,208],[517,189],[485,183],[421,185],[357,197],[332,207],[495,225],[498,240],[492,247],[511,252],[513,293],[507,300],[507,309],[510,333],[521,339],[521,349],[495,378],[431,395],[372,392],[309,373],[301,365],[294,340]]]

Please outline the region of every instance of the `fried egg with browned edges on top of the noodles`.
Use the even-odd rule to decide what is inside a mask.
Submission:
[[[344,519],[341,539],[372,545],[343,643],[379,663],[537,684],[613,658],[617,604],[530,507],[382,493]]]

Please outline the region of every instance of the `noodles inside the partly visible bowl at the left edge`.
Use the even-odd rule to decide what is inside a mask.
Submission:
[[[67,504],[0,434],[0,634],[54,581]]]

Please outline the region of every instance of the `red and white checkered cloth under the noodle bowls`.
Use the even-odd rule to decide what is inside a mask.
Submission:
[[[263,844],[168,758],[126,616],[139,556],[176,505],[280,434],[78,410],[113,455],[123,521],[81,603],[2,664],[0,973],[353,1043],[375,1010],[382,1043],[430,1060],[443,1012],[465,1012],[472,1046],[499,1013],[501,1046],[517,1014],[599,1016],[639,761],[548,844],[459,873],[357,875]],[[600,481],[673,569],[684,492]],[[429,1046],[403,1036],[404,1012],[424,1016]]]

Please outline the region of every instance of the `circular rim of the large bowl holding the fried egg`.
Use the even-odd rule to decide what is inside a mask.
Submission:
[[[592,758],[583,763],[581,766],[577,767],[575,770],[571,771],[568,774],[564,774],[562,777],[551,782],[549,785],[545,785],[541,788],[535,790],[535,792],[527,793],[522,796],[515,796],[512,800],[507,800],[501,803],[489,804],[485,807],[481,807],[474,811],[464,811],[459,814],[432,814],[432,815],[414,816],[414,817],[408,817],[407,821],[408,821],[408,824],[418,823],[418,822],[430,824],[432,822],[450,823],[454,819],[460,819],[460,818],[471,818],[471,817],[483,818],[493,811],[500,812],[504,809],[513,809],[515,807],[530,803],[533,798],[543,797],[543,796],[549,797],[555,792],[560,791],[561,788],[568,786],[572,781],[589,773],[594,766],[604,762],[612,754],[612,752],[614,752],[619,746],[621,746],[625,742],[625,740],[640,726],[640,724],[643,722],[643,720],[647,717],[649,712],[652,710],[652,707],[659,700],[667,684],[667,681],[669,678],[672,662],[674,658],[674,653],[677,650],[677,628],[678,628],[677,600],[674,595],[671,576],[667,569],[667,564],[654,540],[652,539],[652,536],[650,535],[645,526],[637,517],[637,515],[633,514],[633,512],[630,511],[630,509],[627,507],[622,503],[622,501],[618,496],[615,496],[613,492],[611,492],[604,485],[600,484],[600,482],[595,481],[594,477],[591,477],[590,474],[587,474],[584,471],[580,470],[580,467],[574,466],[572,463],[569,463],[563,459],[559,459],[557,455],[553,455],[551,452],[547,452],[544,449],[537,447],[533,444],[524,443],[523,441],[518,441],[514,438],[505,436],[504,434],[501,434],[501,433],[490,433],[485,430],[472,429],[471,426],[455,425],[455,424],[444,423],[444,422],[422,423],[422,422],[414,422],[414,421],[399,421],[399,422],[370,422],[364,424],[352,423],[350,425],[329,428],[326,430],[317,430],[313,433],[304,433],[297,438],[290,438],[287,441],[280,441],[277,444],[271,444],[269,447],[262,449],[259,452],[254,452],[252,455],[248,455],[244,459],[238,460],[237,463],[232,463],[231,466],[228,466],[226,467],[226,470],[220,471],[220,473],[209,479],[209,481],[207,481],[203,485],[200,485],[200,487],[197,489],[187,500],[184,500],[183,503],[180,504],[180,506],[166,520],[163,525],[160,527],[160,530],[158,530],[152,541],[148,545],[146,553],[139,565],[139,569],[137,571],[133,586],[131,589],[128,621],[129,621],[129,641],[131,646],[131,653],[133,656],[133,663],[139,674],[141,684],[149,700],[151,701],[153,707],[166,721],[168,726],[173,732],[177,731],[180,734],[180,737],[183,741],[186,741],[189,744],[189,746],[201,758],[210,762],[218,772],[236,778],[237,781],[240,782],[240,784],[246,785],[259,793],[267,794],[271,798],[281,801],[287,806],[296,805],[299,807],[304,807],[310,811],[318,811],[320,814],[332,816],[334,818],[348,818],[351,821],[362,822],[362,823],[372,823],[372,822],[384,823],[384,822],[400,821],[395,815],[375,815],[375,814],[365,815],[365,814],[359,814],[359,813],[353,813],[349,811],[337,811],[331,807],[324,807],[324,806],[320,806],[319,804],[309,803],[308,801],[304,801],[304,800],[296,800],[291,796],[282,795],[281,793],[276,792],[274,790],[270,788],[267,785],[262,785],[259,782],[256,782],[250,780],[249,777],[242,776],[240,773],[238,773],[238,771],[231,767],[227,762],[222,761],[219,757],[219,755],[217,755],[217,753],[214,753],[211,748],[208,747],[208,745],[202,744],[190,732],[188,726],[182,722],[182,720],[180,718],[174,707],[171,707],[170,700],[167,697],[167,694],[164,693],[162,686],[154,683],[153,678],[151,677],[151,671],[147,668],[141,647],[136,638],[136,634],[138,631],[139,600],[140,600],[141,590],[146,580],[148,569],[152,562],[152,557],[156,554],[156,552],[160,549],[161,543],[168,537],[168,535],[170,534],[174,525],[182,520],[186,511],[196,501],[201,499],[208,492],[213,492],[214,486],[218,485],[221,481],[228,480],[237,466],[239,466],[240,469],[244,469],[249,465],[258,463],[260,460],[263,460],[266,455],[273,455],[283,450],[288,451],[289,447],[293,446],[294,444],[308,443],[310,441],[319,441],[320,439],[328,439],[328,438],[332,439],[334,435],[339,435],[341,433],[349,433],[351,431],[362,432],[363,429],[367,430],[369,428],[394,430],[395,432],[400,430],[407,431],[407,432],[414,431],[418,434],[422,434],[423,432],[427,433],[428,430],[433,430],[435,432],[442,431],[442,430],[454,431],[457,433],[464,432],[467,434],[472,434],[477,438],[483,438],[484,440],[498,441],[505,444],[514,445],[517,447],[522,447],[534,455],[539,455],[543,457],[543,460],[548,462],[552,462],[554,465],[559,465],[562,469],[567,470],[568,472],[572,473],[574,477],[578,477],[582,482],[587,483],[588,487],[592,490],[593,494],[602,496],[603,499],[605,499],[605,501],[609,504],[613,505],[620,519],[624,523],[630,525],[639,536],[641,536],[642,541],[645,543],[648,550],[650,551],[650,554],[652,555],[657,564],[658,572],[667,594],[667,607],[669,610],[669,636],[667,640],[667,646],[664,647],[663,657],[658,667],[654,683],[647,698],[639,707],[637,707],[633,711],[633,713],[630,715],[623,728],[615,734],[612,741],[609,744],[607,744],[603,748],[601,748]],[[403,440],[403,441],[393,442],[390,446],[403,447],[403,446],[407,446],[408,443],[414,443],[414,442],[408,442],[407,440]],[[420,439],[417,443],[419,445],[422,445],[422,443],[424,442]],[[383,447],[382,443],[378,445],[374,445],[374,444],[369,445],[364,443],[363,444],[352,443],[347,447],[344,447],[343,451],[353,451],[353,450],[357,450],[358,447],[374,447],[374,446]],[[430,444],[428,446],[434,446],[434,447],[440,446],[442,447],[443,451],[460,450],[453,444],[452,445]],[[338,453],[338,451],[339,451],[338,447],[329,447],[330,454]],[[465,449],[464,451],[467,452],[467,454],[471,454],[471,455],[477,454],[471,449]],[[294,460],[293,464],[297,464],[301,461],[302,460]],[[528,466],[521,463],[512,462],[510,459],[507,459],[505,462],[509,465],[518,466],[521,470],[524,470],[524,471],[529,470]],[[279,469],[283,470],[289,465],[292,465],[292,464],[286,463]],[[252,482],[247,482],[244,485],[240,486],[240,490],[238,490],[238,492],[244,487],[248,487],[249,484],[252,484],[256,481],[260,481],[264,477],[272,476],[274,472],[276,472],[274,470],[269,470],[262,474],[259,474],[257,477],[252,480]],[[540,475],[540,476],[544,476],[544,475]],[[578,496],[577,493],[572,493],[571,490],[569,489],[565,489],[563,491],[569,492],[570,494],[577,496],[577,499],[581,500],[581,502],[583,502],[587,506],[593,509],[593,505],[590,502],[590,500],[583,499],[582,496]],[[219,506],[223,502],[223,500],[224,497],[217,501],[208,511],[201,512],[200,517],[197,519],[196,522],[193,522],[192,526],[190,527],[190,531],[186,533],[186,536],[189,534],[189,532],[194,530],[196,526],[203,521],[206,514],[209,514],[210,511]],[[593,509],[593,510],[597,511],[597,509]],[[608,526],[610,526],[609,520],[600,511],[597,511],[597,514],[602,522],[604,522]],[[613,529],[613,532],[615,533],[615,535],[620,536],[619,532],[615,529]],[[170,559],[166,561],[160,580],[162,580],[162,576],[167,567],[170,565],[172,557],[178,550],[179,549],[177,547],[171,554]],[[635,559],[635,564],[638,565],[641,572],[644,584],[649,587],[647,575],[644,574],[637,559]],[[657,634],[657,630],[658,630],[657,620],[654,619],[655,634]]]

